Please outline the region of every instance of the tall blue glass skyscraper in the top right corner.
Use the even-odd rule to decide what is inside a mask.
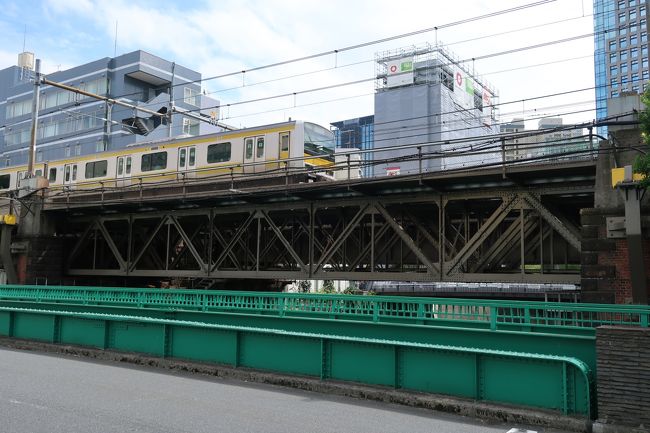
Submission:
[[[648,28],[645,0],[594,0],[596,117],[607,117],[607,99],[647,85]],[[607,128],[598,130],[606,136]]]

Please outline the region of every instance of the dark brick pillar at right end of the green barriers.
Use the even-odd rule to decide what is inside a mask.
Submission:
[[[596,330],[598,420],[650,426],[650,328]]]

